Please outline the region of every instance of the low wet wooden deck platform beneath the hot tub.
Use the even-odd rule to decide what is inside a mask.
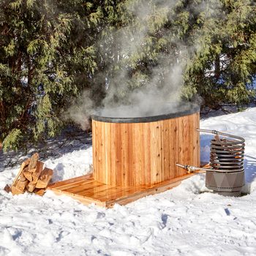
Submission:
[[[165,192],[178,186],[182,180],[193,176],[193,173],[162,181],[150,186],[121,187],[102,184],[95,181],[92,174],[71,178],[51,184],[48,189],[57,195],[68,195],[86,205],[95,203],[97,206],[111,208],[115,203],[125,205],[140,197]]]

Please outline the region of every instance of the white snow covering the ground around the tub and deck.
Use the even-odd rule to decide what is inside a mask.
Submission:
[[[213,194],[199,174],[162,194],[105,209],[53,192],[12,197],[3,188],[18,166],[2,166],[0,255],[256,255],[256,108],[207,118],[200,127],[246,139],[246,195]],[[210,138],[201,135],[203,160]],[[91,146],[83,143],[46,161],[55,181],[91,171]]]

